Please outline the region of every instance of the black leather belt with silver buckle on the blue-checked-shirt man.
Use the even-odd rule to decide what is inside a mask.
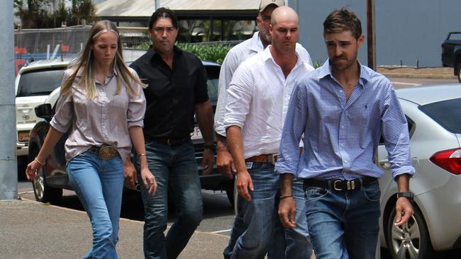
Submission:
[[[305,179],[304,189],[308,187],[320,187],[330,190],[357,190],[368,183],[373,183],[377,178],[364,176],[363,178],[357,178],[354,180],[316,180],[316,179]]]

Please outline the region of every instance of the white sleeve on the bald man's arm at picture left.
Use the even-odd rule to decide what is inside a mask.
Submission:
[[[252,91],[255,87],[250,69],[243,63],[235,70],[228,88],[228,103],[224,115],[224,127],[243,127],[252,100]]]

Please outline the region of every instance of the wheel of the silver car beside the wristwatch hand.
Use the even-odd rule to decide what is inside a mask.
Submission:
[[[423,214],[413,206],[414,214],[402,226],[395,226],[395,207],[387,219],[386,242],[392,258],[433,258],[433,248]]]

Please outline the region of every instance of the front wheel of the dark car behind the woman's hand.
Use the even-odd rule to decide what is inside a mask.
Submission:
[[[34,151],[32,157],[35,158],[37,154],[38,151]],[[62,200],[62,189],[52,188],[46,184],[45,166],[39,169],[37,176],[32,180],[35,200],[43,203],[50,202],[51,204],[59,204]]]

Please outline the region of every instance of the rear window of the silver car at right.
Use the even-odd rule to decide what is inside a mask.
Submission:
[[[461,133],[461,98],[421,105],[419,109],[449,132]]]

